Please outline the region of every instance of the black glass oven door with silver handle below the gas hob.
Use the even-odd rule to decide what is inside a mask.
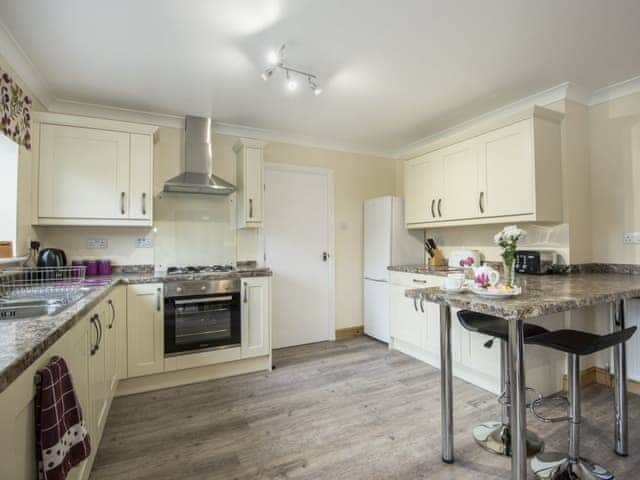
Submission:
[[[166,298],[165,355],[240,346],[240,293]]]

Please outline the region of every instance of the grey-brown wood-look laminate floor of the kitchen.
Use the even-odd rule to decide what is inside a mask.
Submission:
[[[117,398],[92,480],[508,479],[509,459],[469,435],[495,397],[454,382],[456,463],[440,461],[439,371],[359,337],[274,352],[277,369]],[[583,391],[582,452],[618,479],[640,478],[640,397],[631,456],[612,452],[613,397]],[[532,430],[565,449],[564,423]]]

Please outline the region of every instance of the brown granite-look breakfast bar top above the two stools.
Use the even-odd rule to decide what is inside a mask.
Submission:
[[[471,292],[446,293],[439,287],[411,289],[409,298],[495,315],[507,320],[527,319],[577,308],[640,297],[640,276],[620,273],[518,275],[522,295],[504,300]]]

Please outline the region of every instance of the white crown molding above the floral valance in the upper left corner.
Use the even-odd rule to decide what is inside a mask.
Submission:
[[[49,108],[54,98],[51,87],[2,22],[2,19],[0,19],[0,55],[24,82],[26,89],[30,91],[29,93],[45,108]]]

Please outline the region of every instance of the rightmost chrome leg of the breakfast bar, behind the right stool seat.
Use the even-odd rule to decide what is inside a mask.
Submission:
[[[613,329],[624,330],[624,300],[611,304],[610,310]],[[627,410],[627,350],[622,342],[613,347],[613,371],[615,374],[615,452],[626,457],[629,454],[629,425]]]

